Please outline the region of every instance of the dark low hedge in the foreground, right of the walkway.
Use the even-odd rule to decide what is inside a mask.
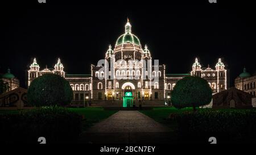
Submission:
[[[172,114],[177,132],[188,141],[207,141],[210,136],[222,142],[256,143],[256,110],[199,110]]]

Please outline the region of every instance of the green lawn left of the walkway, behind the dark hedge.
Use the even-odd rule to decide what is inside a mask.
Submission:
[[[117,110],[104,110],[102,107],[67,108],[67,110],[82,115],[85,118],[82,121],[83,131],[117,112]],[[29,110],[0,110],[0,114],[18,114],[21,111]]]

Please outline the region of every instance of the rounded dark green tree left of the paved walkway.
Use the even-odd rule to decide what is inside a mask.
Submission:
[[[64,106],[73,99],[69,82],[56,74],[35,78],[27,92],[28,103],[33,106]]]

